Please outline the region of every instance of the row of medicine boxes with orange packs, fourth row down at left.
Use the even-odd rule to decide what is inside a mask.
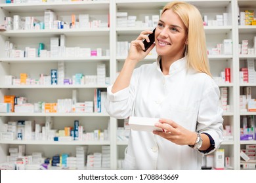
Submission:
[[[106,112],[106,91],[95,89],[93,101],[77,102],[77,90],[72,91],[72,99],[58,99],[57,103],[28,103],[26,97],[5,95],[3,103],[0,103],[0,112],[16,113],[92,113]]]

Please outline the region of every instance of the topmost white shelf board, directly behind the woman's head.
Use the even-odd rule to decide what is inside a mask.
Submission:
[[[118,8],[135,8],[135,9],[145,9],[145,8],[162,8],[166,3],[169,3],[169,0],[161,0],[156,1],[152,0],[150,3],[146,0],[116,0],[116,6]],[[207,7],[211,8],[217,8],[217,7],[226,7],[230,1],[226,0],[217,0],[217,1],[209,1],[209,0],[194,0],[194,1],[187,1],[189,3],[192,3],[193,5],[196,5],[198,8],[205,8],[205,5]],[[147,4],[145,4],[147,3]]]

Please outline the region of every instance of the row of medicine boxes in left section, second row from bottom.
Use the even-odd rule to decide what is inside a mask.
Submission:
[[[108,124],[109,125],[109,124]],[[107,129],[85,131],[79,120],[74,121],[74,126],[64,129],[53,129],[53,118],[47,118],[45,125],[29,120],[8,122],[0,132],[1,141],[109,141],[109,126]]]

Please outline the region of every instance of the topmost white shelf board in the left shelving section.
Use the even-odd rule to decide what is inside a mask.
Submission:
[[[110,1],[79,1],[61,3],[10,3],[0,4],[0,7],[9,12],[38,12],[51,9],[54,12],[70,10],[108,10]]]

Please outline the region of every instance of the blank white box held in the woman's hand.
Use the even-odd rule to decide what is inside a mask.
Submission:
[[[156,127],[155,124],[159,122],[159,118],[143,118],[130,116],[129,125],[131,129],[136,131],[163,131],[160,127]]]

